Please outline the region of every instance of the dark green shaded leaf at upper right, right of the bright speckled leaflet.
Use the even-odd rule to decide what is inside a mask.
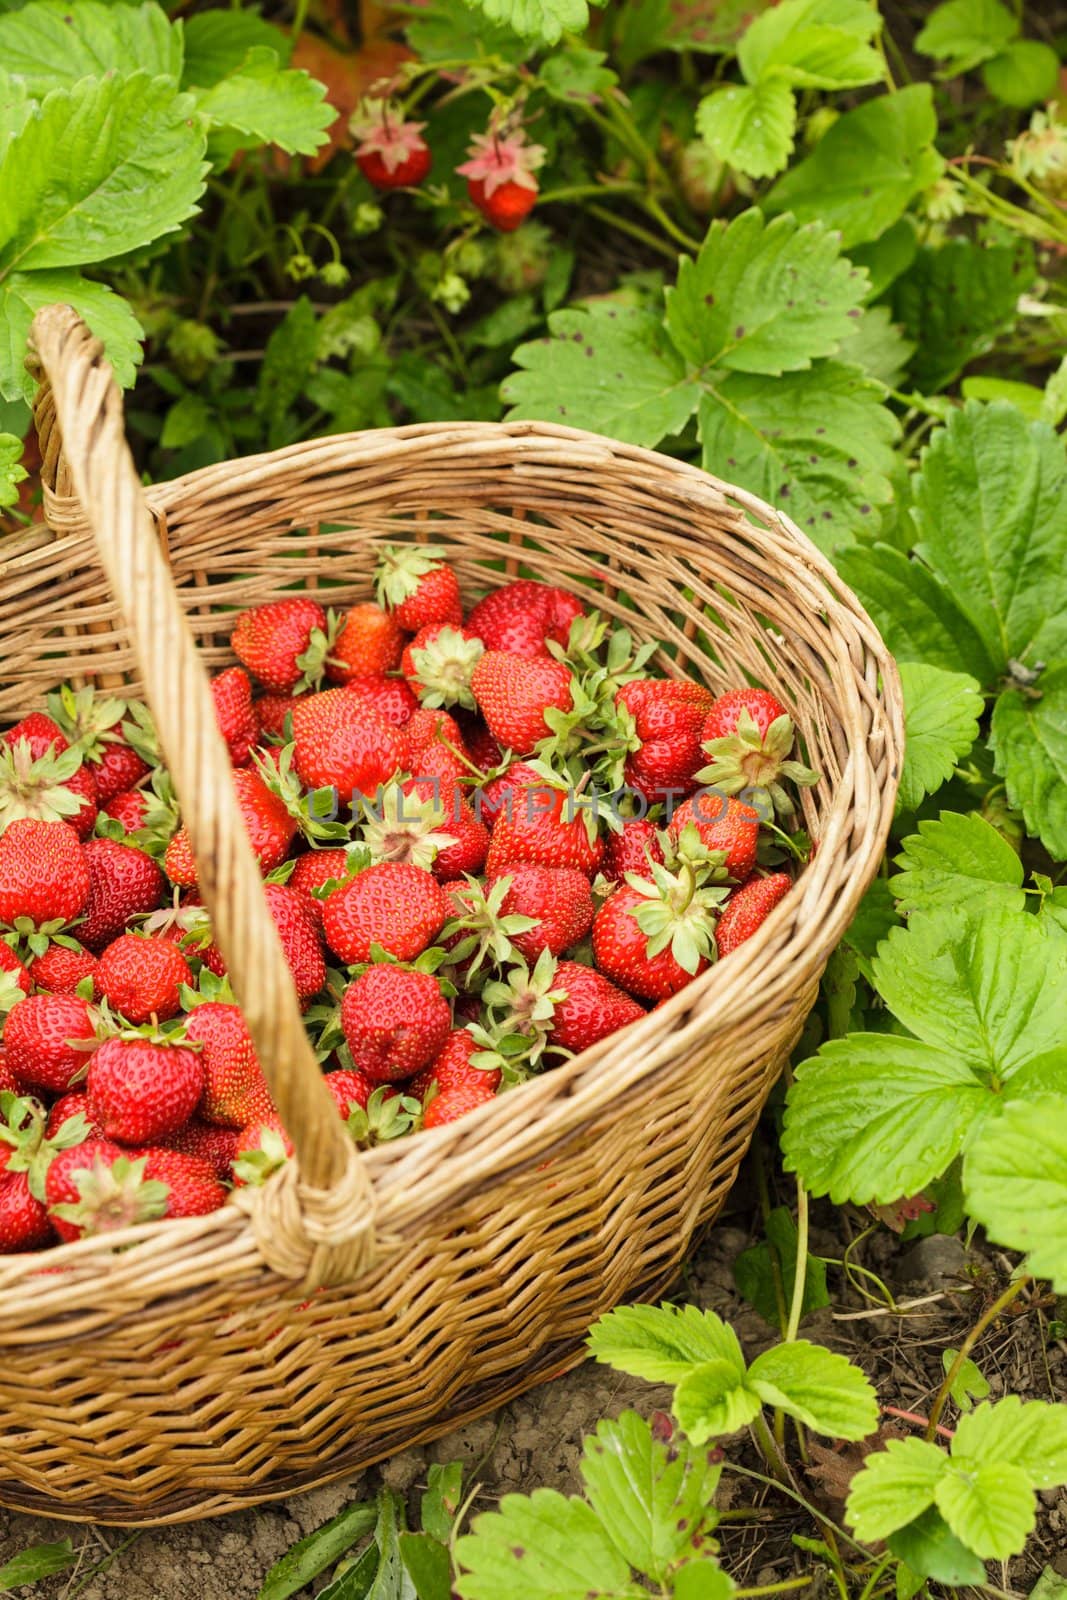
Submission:
[[[974,245],[950,238],[923,246],[893,285],[893,315],[915,341],[912,378],[923,394],[944,389],[998,333],[1014,326],[1016,304],[1033,283],[1027,240]]]

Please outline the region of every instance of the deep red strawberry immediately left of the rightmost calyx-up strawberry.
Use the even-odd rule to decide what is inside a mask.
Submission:
[[[640,741],[625,762],[630,789],[649,805],[688,794],[704,762],[701,730],[715,704],[712,691],[689,678],[633,678],[614,702],[633,718]]]

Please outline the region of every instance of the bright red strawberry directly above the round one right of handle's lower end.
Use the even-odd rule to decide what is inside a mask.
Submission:
[[[323,901],[323,933],[342,962],[370,962],[373,944],[413,962],[446,915],[445,893],[427,870],[408,861],[379,861]]]

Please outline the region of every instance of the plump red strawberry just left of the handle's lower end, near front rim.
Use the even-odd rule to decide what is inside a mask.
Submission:
[[[109,1139],[150,1144],[178,1133],[203,1093],[195,1050],[152,1038],[107,1038],[93,1051],[88,1114]]]

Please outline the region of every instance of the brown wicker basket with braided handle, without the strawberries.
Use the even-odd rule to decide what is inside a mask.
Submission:
[[[2,1261],[0,1501],[179,1522],[445,1432],[573,1363],[606,1307],[665,1290],[877,869],[899,685],[785,517],[665,456],[536,422],[429,424],[142,490],[99,344],[66,307],[34,338],[50,526],[3,546],[0,712],[67,677],[152,704],[298,1162],[213,1216]],[[669,1005],[360,1157],[304,1035],[203,669],[230,659],[229,608],[309,581],[365,598],[376,546],[405,538],[445,544],[467,595],[549,579],[664,640],[667,672],[773,686],[822,773],[805,792],[817,850],[744,952]]]

